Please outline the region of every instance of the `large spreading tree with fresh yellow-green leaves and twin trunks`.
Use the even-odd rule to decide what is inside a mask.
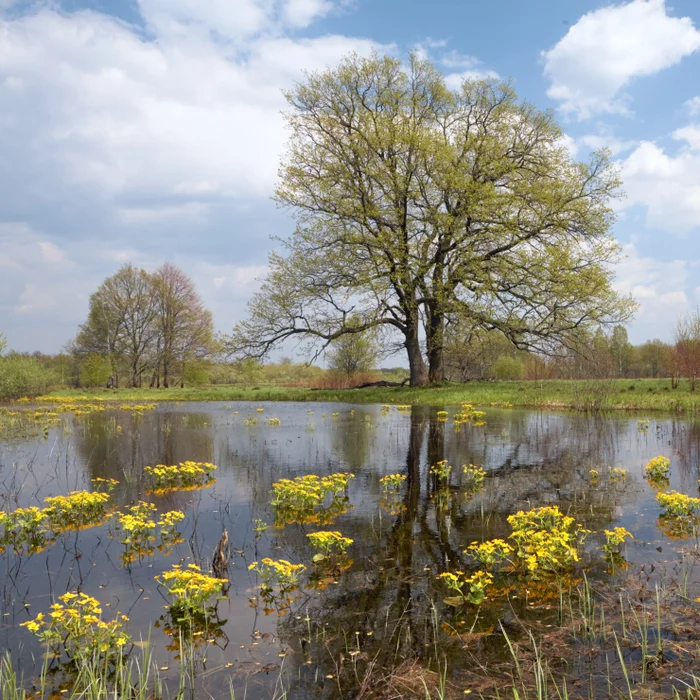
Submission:
[[[286,97],[275,198],[297,227],[232,352],[263,357],[297,337],[319,353],[377,329],[420,385],[442,380],[459,319],[542,352],[629,317],[612,287],[609,154],[574,161],[552,114],[509,84],[452,91],[417,55],[351,55]]]

